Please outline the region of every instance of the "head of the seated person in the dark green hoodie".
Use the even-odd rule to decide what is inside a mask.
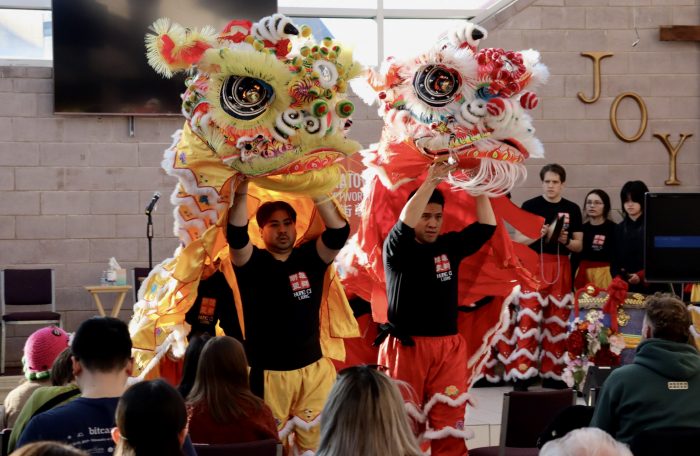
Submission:
[[[688,342],[690,315],[682,301],[669,294],[656,293],[647,297],[642,337]]]

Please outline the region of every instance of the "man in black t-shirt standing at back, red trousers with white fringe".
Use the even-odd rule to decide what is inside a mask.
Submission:
[[[571,264],[569,254],[580,252],[583,242],[581,210],[576,203],[562,197],[566,171],[556,163],[540,170],[543,195],[523,203],[528,212],[544,217],[542,238],[533,240],[522,235],[516,241],[528,244],[539,254],[538,290],[525,290],[518,299],[516,336],[513,351],[506,363],[506,378],[516,381],[516,389],[527,389],[539,370],[543,386],[565,387],[561,373],[565,367],[566,332],[571,301]],[[563,218],[558,239],[545,241],[549,225]],[[541,340],[541,349],[540,349]],[[538,362],[541,364],[538,369]]]

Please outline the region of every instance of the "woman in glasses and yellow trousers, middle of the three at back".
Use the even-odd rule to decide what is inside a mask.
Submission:
[[[610,196],[596,188],[584,200],[583,246],[572,262],[578,264],[574,289],[587,284],[606,289],[612,282],[610,262],[615,251],[615,222],[610,220]]]

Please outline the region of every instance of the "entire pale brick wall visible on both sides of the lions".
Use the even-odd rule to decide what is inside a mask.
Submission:
[[[636,47],[634,24],[641,38]],[[601,187],[613,197],[627,180],[643,179],[652,191],[700,191],[700,44],[660,42],[660,25],[697,25],[695,0],[520,0],[490,18],[482,44],[535,48],[552,73],[533,112],[547,158],[531,160],[530,176],[514,192],[516,202],[539,193],[542,164],[566,166],[567,196],[582,201]],[[592,94],[590,59],[583,51],[615,55],[602,64],[602,95]],[[129,137],[124,117],[54,116],[51,69],[0,67],[0,267],[56,269],[57,302],[69,330],[96,313],[83,285],[97,283],[110,256],[126,267],[148,265],[143,208],[163,194],[154,215],[154,263],[176,247],[168,195],[174,179],[160,169],[163,150],[180,118],[137,118]],[[624,143],[610,127],[612,100],[621,92],[641,95],[649,110],[642,139]],[[358,99],[351,136],[364,146],[377,141],[375,107]],[[639,111],[630,100],[618,111],[627,134]],[[667,152],[653,133],[692,133],[678,158],[678,187],[664,186]],[[106,300],[109,298],[106,298]],[[128,319],[132,294],[121,317]],[[111,304],[110,304],[111,305]],[[8,361],[19,362],[31,329],[10,330]]]

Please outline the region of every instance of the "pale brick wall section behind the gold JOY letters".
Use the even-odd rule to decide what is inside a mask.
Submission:
[[[537,49],[549,67],[548,84],[539,91],[533,111],[545,158],[528,163],[526,184],[513,193],[520,203],[539,194],[539,169],[558,162],[567,169],[566,197],[579,205],[588,190],[602,188],[620,208],[626,181],[641,179],[651,191],[700,191],[700,43],[659,41],[662,25],[700,25],[697,0],[519,0],[484,25],[486,47]],[[639,33],[636,40],[635,25]],[[606,51],[602,61],[601,97],[593,104],[577,98],[593,95],[593,65],[581,52]],[[621,141],[610,125],[610,106],[623,92],[639,94],[648,110],[648,125],[634,143]],[[640,112],[630,99],[621,102],[618,123],[632,136]],[[676,144],[680,186],[666,186],[668,153],[654,133],[670,133]]]

